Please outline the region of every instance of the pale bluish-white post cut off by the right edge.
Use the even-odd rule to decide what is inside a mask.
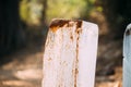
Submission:
[[[131,87],[131,24],[127,26],[123,38],[123,87]]]

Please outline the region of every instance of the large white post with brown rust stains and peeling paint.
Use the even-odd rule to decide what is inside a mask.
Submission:
[[[94,87],[98,27],[53,20],[45,45],[43,87]]]

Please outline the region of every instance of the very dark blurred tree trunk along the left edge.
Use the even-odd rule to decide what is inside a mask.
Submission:
[[[20,0],[0,0],[0,55],[22,44],[19,15]]]

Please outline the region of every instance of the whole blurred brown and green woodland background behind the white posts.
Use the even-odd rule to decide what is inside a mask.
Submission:
[[[130,4],[130,0],[0,0],[0,87],[40,87],[44,45],[52,18],[96,23],[96,87],[121,85]]]

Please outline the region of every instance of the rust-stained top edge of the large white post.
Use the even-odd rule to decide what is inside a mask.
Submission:
[[[92,22],[86,22],[82,20],[66,20],[66,18],[52,18],[49,28],[55,33],[57,32],[58,28],[60,27],[72,27],[76,25],[76,28],[82,28],[83,24],[93,26],[93,27],[98,27],[97,24],[92,23]]]

